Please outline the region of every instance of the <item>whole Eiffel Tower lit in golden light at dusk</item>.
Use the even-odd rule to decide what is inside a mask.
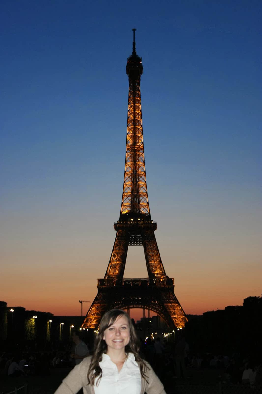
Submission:
[[[82,328],[97,329],[103,314],[113,308],[143,308],[161,316],[170,328],[183,328],[187,318],[174,294],[173,279],[166,275],[157,247],[151,220],[140,99],[141,58],[137,56],[135,29],[133,52],[127,59],[129,78],[125,174],[120,217],[114,223],[116,238],[103,279],[98,279],[98,294],[90,306]],[[129,245],[143,245],[148,278],[125,279]]]

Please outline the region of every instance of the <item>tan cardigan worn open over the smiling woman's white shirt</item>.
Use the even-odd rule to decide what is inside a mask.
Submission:
[[[80,364],[76,365],[72,371],[63,379],[63,383],[57,388],[55,394],[76,394],[83,387],[84,394],[95,394],[94,386],[87,383],[87,372],[89,370],[92,356],[85,357]],[[140,394],[166,394],[164,386],[152,370],[151,366],[146,362],[148,370],[146,370],[147,380],[141,379]]]

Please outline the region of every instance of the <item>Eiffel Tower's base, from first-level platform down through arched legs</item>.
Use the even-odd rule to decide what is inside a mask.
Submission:
[[[150,309],[170,328],[183,328],[185,312],[174,294],[172,278],[98,279],[98,294],[87,313],[83,328],[97,329],[103,314],[110,309]]]

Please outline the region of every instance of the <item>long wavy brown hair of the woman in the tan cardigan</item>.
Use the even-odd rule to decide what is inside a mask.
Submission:
[[[125,313],[124,310],[121,309],[111,309],[108,312],[106,312],[103,317],[101,318],[100,325],[99,325],[99,333],[96,336],[95,342],[94,342],[94,355],[91,359],[90,367],[87,373],[87,379],[88,383],[92,386],[94,386],[94,381],[96,377],[98,377],[96,385],[98,385],[103,371],[101,370],[99,366],[99,362],[102,361],[103,353],[106,353],[107,351],[107,344],[105,343],[105,340],[103,339],[104,336],[104,331],[110,327],[119,316],[125,316],[128,320],[128,325],[130,329],[130,341],[129,343],[125,346],[125,353],[133,353],[135,356],[135,360],[138,362],[140,365],[140,373],[141,376],[146,380],[147,375],[145,374],[146,369],[148,367],[146,366],[146,363],[144,362],[143,359],[141,359],[139,355],[139,348],[140,348],[140,342],[137,338],[137,334],[135,332],[135,328],[133,326],[132,320],[128,316],[127,313]]]

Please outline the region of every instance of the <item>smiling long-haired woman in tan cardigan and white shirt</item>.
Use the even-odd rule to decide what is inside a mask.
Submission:
[[[66,376],[55,394],[166,394],[151,366],[138,354],[139,340],[124,310],[112,309],[100,321],[94,355]]]

